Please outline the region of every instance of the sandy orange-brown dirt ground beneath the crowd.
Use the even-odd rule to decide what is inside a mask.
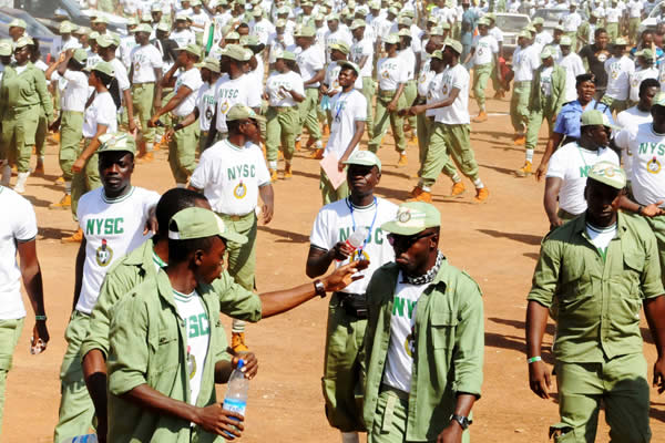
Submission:
[[[491,96],[491,94],[489,95]],[[471,100],[472,114],[475,103]],[[440,248],[450,262],[466,269],[484,292],[485,361],[483,396],[474,406],[471,435],[475,442],[546,442],[550,424],[557,421],[555,400],[531,393],[524,356],[525,296],[548,220],[542,207],[543,183],[532,177],[515,178],[512,171],[524,162],[523,148],[512,144],[508,116],[509,99],[490,100],[490,120],[472,124],[471,140],[490,199],[473,204],[473,185],[466,181],[463,198],[450,199],[446,177],[433,187],[434,204],[442,214]],[[544,147],[543,138],[536,164]],[[418,147],[408,148],[409,165],[396,167],[391,136],[380,151],[383,175],[377,194],[399,203],[416,184]],[[308,281],[305,260],[309,233],[320,208],[318,164],[305,153],[296,156],[294,178],[279,179],[275,187],[275,217],[259,227],[257,284],[260,291]],[[62,245],[60,238],[75,227],[69,212],[49,210],[62,188],[54,185],[60,173],[57,146],[50,143],[47,176],[30,178],[25,196],[37,209],[40,226],[39,258],[44,276],[44,295],[51,342],[45,353],[30,356],[29,313],[9,374],[2,442],[50,442],[58,419],[59,369],[64,353],[63,332],[71,312],[74,257],[78,246]],[[133,183],[157,192],[173,186],[166,154],[139,165]],[[4,208],[11,210],[11,208]],[[28,302],[27,302],[27,306]],[[339,442],[329,427],[320,390],[327,300],[310,300],[280,317],[247,328],[247,341],[259,359],[259,374],[253,381],[243,442]],[[229,327],[231,321],[226,319]],[[643,320],[644,331],[646,322]],[[228,329],[227,329],[228,330]],[[548,329],[545,344],[552,342]],[[651,365],[655,349],[646,332],[645,352]],[[544,351],[545,360],[552,362]],[[649,379],[651,380],[651,379]],[[224,387],[218,388],[223,398]],[[598,442],[608,441],[601,418]],[[654,441],[665,435],[665,396],[652,391],[651,425]],[[661,437],[658,437],[661,435]]]

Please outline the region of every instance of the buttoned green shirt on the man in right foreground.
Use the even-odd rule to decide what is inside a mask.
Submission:
[[[554,356],[563,362],[642,352],[642,302],[665,292],[656,238],[642,217],[618,213],[603,260],[586,234],[585,214],[545,238],[528,297],[556,320]]]

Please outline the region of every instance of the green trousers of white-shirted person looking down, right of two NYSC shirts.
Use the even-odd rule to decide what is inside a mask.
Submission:
[[[300,132],[298,110],[294,107],[268,107],[266,115],[266,157],[277,162],[277,152],[282,146],[284,159],[290,163],[296,148],[296,135]]]

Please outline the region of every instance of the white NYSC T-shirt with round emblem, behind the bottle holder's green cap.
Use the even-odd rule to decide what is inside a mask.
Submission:
[[[203,189],[215,213],[246,215],[256,208],[258,188],[270,184],[270,173],[260,147],[223,140],[201,155],[190,184]]]

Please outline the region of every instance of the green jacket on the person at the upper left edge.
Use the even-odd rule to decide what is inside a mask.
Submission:
[[[47,89],[44,73],[30,62],[20,74],[16,68],[14,63],[4,68],[0,86],[0,121],[10,117],[9,111],[40,105],[51,122],[53,103]]]

